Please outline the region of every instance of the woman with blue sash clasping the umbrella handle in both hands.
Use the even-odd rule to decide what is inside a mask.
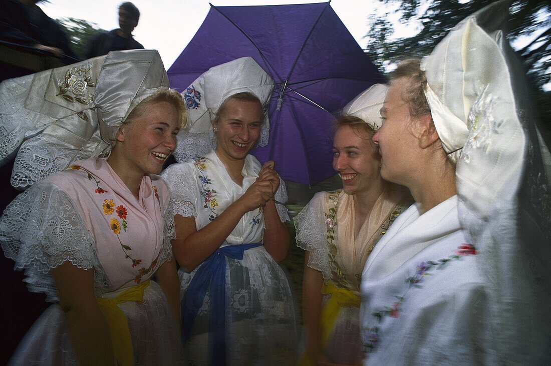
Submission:
[[[293,300],[276,263],[289,247],[280,204],[287,194],[274,163],[261,166],[249,154],[266,143],[263,106],[272,90],[269,75],[245,57],[211,68],[185,91],[190,129],[175,153],[184,162],[163,178],[174,203],[190,364],[294,363]]]

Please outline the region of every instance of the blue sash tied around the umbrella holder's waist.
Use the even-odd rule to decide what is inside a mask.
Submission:
[[[260,247],[262,242],[241,245],[227,245],[218,248],[195,272],[182,300],[182,335],[186,343],[204,297],[210,288],[209,307],[209,349],[213,365],[226,364],[226,256],[243,259],[247,249]]]

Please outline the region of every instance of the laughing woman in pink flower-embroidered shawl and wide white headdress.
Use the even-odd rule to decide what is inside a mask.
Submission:
[[[182,362],[174,217],[155,174],[187,117],[167,85],[156,51],[111,52],[0,85],[2,97],[19,96],[0,111],[4,131],[44,129],[19,150],[19,182],[36,184],[4,211],[0,243],[30,290],[56,302],[10,364]]]

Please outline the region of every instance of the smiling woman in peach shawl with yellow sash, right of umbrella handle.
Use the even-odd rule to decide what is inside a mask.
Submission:
[[[302,303],[306,352],[300,364],[358,364],[359,286],[365,260],[411,204],[403,187],[384,181],[371,138],[388,86],[375,84],[343,109],[333,138],[333,168],[343,189],[319,192],[294,218],[306,250]]]

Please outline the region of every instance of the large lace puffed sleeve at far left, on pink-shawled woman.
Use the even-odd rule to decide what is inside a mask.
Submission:
[[[0,245],[24,270],[28,288],[57,301],[52,268],[69,261],[80,269],[101,268],[94,241],[74,201],[56,184],[40,183],[21,193],[0,218]]]

